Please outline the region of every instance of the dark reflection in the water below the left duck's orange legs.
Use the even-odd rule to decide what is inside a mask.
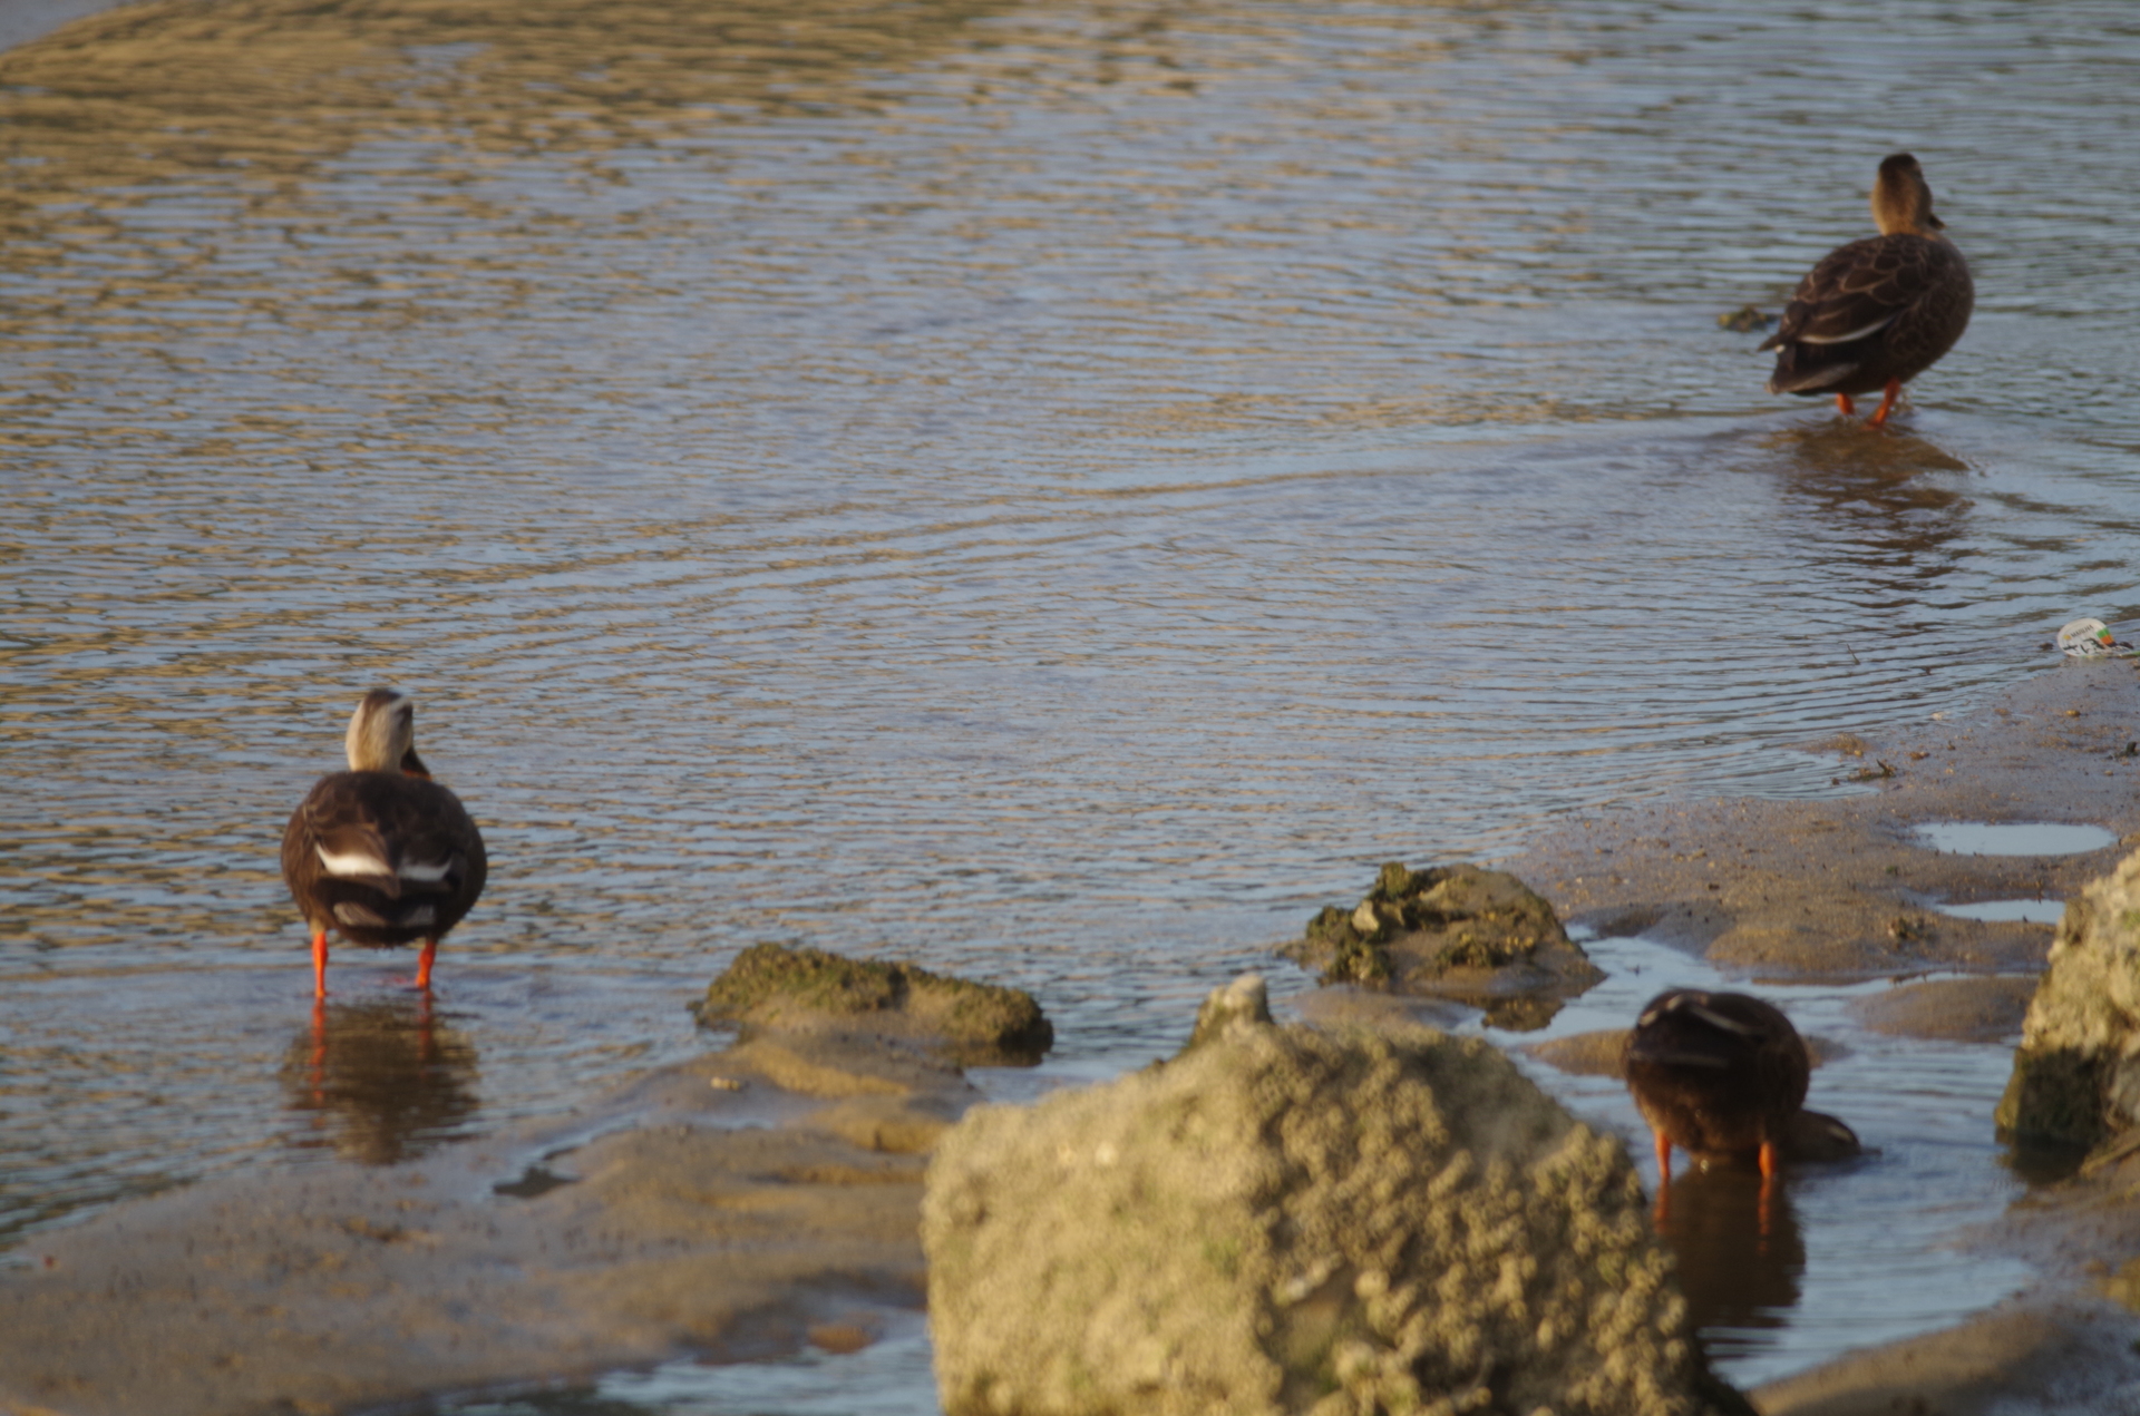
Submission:
[[[392,1166],[464,1134],[477,1110],[475,1046],[430,995],[325,1003],[282,1059],[282,1091],[310,1125],[302,1146]]]

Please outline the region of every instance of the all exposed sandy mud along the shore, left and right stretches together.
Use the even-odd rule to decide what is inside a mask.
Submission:
[[[1843,744],[1838,776],[1872,772],[1870,791],[1654,804],[1500,864],[1573,924],[1644,930],[1753,980],[2014,975],[2042,963],[2050,926],[1935,905],[2063,896],[2101,875],[2140,841],[2140,761],[2121,755],[2136,736],[2131,663],[2061,665],[1967,721]],[[1911,836],[1941,819],[2097,824],[2125,843],[1941,856]],[[2001,988],[2012,1010],[2012,978]],[[1986,1027],[1967,988],[1922,1003],[1892,1025]],[[118,1204],[32,1238],[0,1275],[0,1407],[351,1412],[869,1341],[882,1313],[920,1305],[924,1153],[976,1097],[892,1044],[762,1040],[422,1161]],[[2101,1290],[2140,1251],[2134,1174],[2039,1189],[1958,1236],[2035,1264],[2027,1296],[1755,1401],[1772,1416],[2129,1410],[2140,1320]]]

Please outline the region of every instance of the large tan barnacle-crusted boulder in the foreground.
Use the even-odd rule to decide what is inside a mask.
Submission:
[[[922,1245],[950,1416],[1751,1414],[1620,1142],[1430,1029],[1235,1022],[974,1108]]]

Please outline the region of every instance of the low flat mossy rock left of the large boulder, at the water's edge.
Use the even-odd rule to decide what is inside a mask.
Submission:
[[[755,943],[696,1003],[700,1022],[753,1031],[914,1037],[961,1065],[1034,1063],[1055,1029],[1029,992],[944,978],[910,963]]]

